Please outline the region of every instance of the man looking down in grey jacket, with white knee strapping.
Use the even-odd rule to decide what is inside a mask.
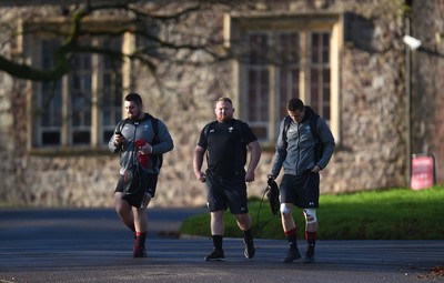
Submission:
[[[280,185],[281,220],[290,249],[282,262],[289,263],[301,259],[293,219],[293,208],[296,205],[303,210],[305,216],[305,239],[309,246],[304,262],[309,263],[314,261],[317,233],[319,172],[327,165],[335,143],[325,120],[317,117],[313,109],[305,107],[300,99],[291,99],[286,111],[289,117],[281,122],[271,171],[271,180],[274,180],[281,168],[284,168]],[[312,123],[312,118],[316,118],[315,123]],[[287,124],[285,121],[290,122],[289,127],[285,127]],[[321,145],[322,152],[316,150],[316,144]]]

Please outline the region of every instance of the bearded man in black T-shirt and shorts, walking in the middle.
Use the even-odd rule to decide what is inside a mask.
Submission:
[[[234,108],[229,98],[218,99],[214,112],[216,121],[208,123],[201,131],[193,158],[195,178],[206,183],[206,204],[211,214],[214,250],[205,256],[205,261],[225,260],[222,240],[226,209],[230,209],[244,233],[245,257],[252,259],[255,247],[245,182],[254,181],[254,170],[261,158],[261,145],[245,122],[233,119]],[[245,172],[246,148],[251,156]],[[204,173],[201,170],[205,152],[208,152],[208,169]]]

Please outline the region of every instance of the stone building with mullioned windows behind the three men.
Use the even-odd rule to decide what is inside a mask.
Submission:
[[[323,115],[336,139],[321,174],[323,193],[408,186],[414,153],[433,153],[436,168],[444,162],[443,0],[203,1],[204,10],[185,19],[143,23],[175,42],[216,42],[213,50],[225,60],[213,63],[202,63],[208,55],[202,50],[174,52],[175,60],[167,62],[162,55],[168,52],[158,52],[159,46],[131,27],[120,37],[92,38],[103,27],[118,30],[134,20],[128,11],[104,9],[85,20],[91,34],[80,44],[133,54],[150,47],[145,52],[155,58],[155,75],[135,60],[113,64],[85,51],[56,81],[4,71],[8,60],[54,67],[62,43],[56,31],[67,31],[69,19],[87,2],[138,2],[134,7],[164,16],[199,1],[0,3],[1,205],[111,206],[119,156],[108,152],[107,143],[130,91],[168,124],[175,143],[164,155],[153,205],[204,205],[192,154],[221,95],[233,99],[236,118],[250,123],[262,144],[250,195],[261,196],[265,189],[279,122],[292,97]],[[183,37],[185,31],[195,38]],[[411,50],[405,34],[420,39],[421,47]],[[185,57],[201,63],[181,63]],[[436,180],[444,182],[440,170]]]

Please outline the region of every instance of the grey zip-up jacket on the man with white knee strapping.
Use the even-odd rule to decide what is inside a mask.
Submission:
[[[334,138],[323,118],[317,119],[316,133],[323,143],[323,153],[321,159],[314,162],[315,140],[310,129],[310,119],[314,115],[313,109],[305,107],[305,115],[301,123],[290,122],[290,128],[286,132],[286,146],[282,140],[284,120],[281,121],[276,150],[273,159],[271,174],[276,178],[284,168],[284,174],[301,175],[307,170],[312,170],[314,165],[324,169],[334,152]]]

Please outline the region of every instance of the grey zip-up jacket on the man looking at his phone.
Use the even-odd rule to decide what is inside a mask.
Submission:
[[[145,113],[143,119],[138,121],[132,121],[128,119],[123,125],[123,129],[120,129],[122,122],[120,122],[115,127],[115,131],[120,131],[124,137],[124,142],[121,146],[117,146],[114,143],[114,135],[111,137],[108,142],[108,148],[111,152],[118,153],[120,152],[120,174],[124,174],[124,171],[129,170],[133,164],[139,162],[138,159],[138,149],[135,146],[134,141],[144,140],[152,146],[152,153],[150,156],[150,161],[148,163],[147,171],[148,173],[159,174],[160,164],[153,164],[152,155],[163,154],[168,151],[171,151],[174,148],[173,140],[167,129],[167,125],[158,120],[158,140],[159,143],[153,144],[154,140],[154,130],[152,124],[152,119],[150,115]]]

